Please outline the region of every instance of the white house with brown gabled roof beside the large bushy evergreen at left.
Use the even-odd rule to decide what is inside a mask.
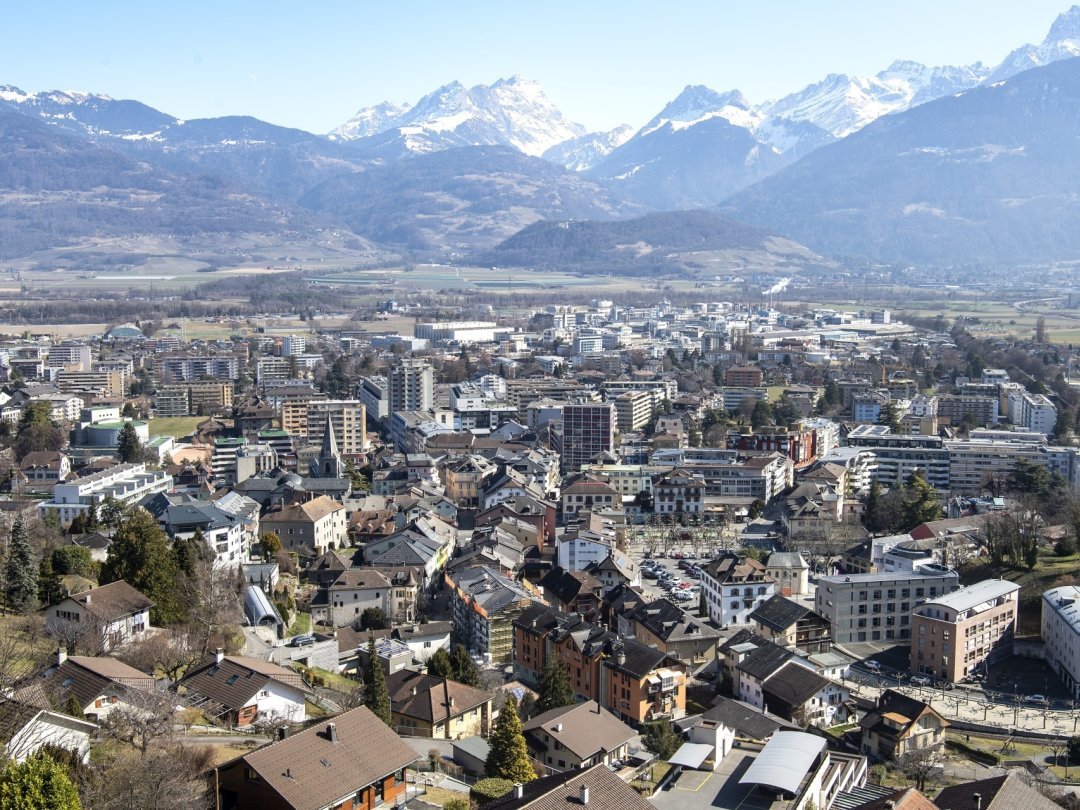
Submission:
[[[150,599],[119,580],[45,608],[45,629],[71,647],[108,652],[146,637],[153,606]]]

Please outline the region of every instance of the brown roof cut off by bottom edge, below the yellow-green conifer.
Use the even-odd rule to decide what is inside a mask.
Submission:
[[[615,775],[606,765],[567,771],[526,783],[522,798],[514,792],[485,805],[485,810],[580,810],[581,786],[589,788],[589,810],[656,810],[642,794]]]

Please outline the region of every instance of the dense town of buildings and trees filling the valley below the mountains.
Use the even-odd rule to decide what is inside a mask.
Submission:
[[[95,807],[1056,807],[1065,348],[635,297],[0,343],[9,756]]]

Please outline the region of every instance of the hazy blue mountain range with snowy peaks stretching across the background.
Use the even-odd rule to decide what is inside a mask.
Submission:
[[[644,126],[610,132],[586,132],[519,76],[366,107],[325,135],[0,86],[0,178],[18,189],[0,197],[0,233],[18,237],[3,253],[124,222],[183,229],[189,206],[190,221],[208,227],[213,213],[222,233],[343,229],[365,249],[462,256],[541,220],[719,205],[831,255],[1062,257],[1077,54],[1080,6],[997,66],[897,60],[760,103],[688,85]],[[72,216],[64,191],[116,210],[98,199],[94,216]],[[156,214],[138,202],[151,198]],[[35,211],[44,220],[23,228]]]

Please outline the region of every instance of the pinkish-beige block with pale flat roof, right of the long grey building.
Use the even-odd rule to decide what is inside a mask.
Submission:
[[[988,579],[912,615],[912,672],[956,684],[1012,656],[1020,585]]]

